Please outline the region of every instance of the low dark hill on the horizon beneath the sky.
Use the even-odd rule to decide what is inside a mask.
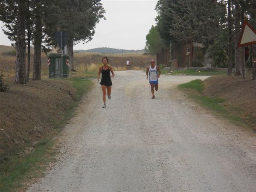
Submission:
[[[94,49],[87,49],[87,50],[74,50],[74,52],[98,52],[98,53],[126,53],[126,52],[145,52],[145,49],[141,50],[128,50],[128,49],[115,49],[109,47],[99,47]]]

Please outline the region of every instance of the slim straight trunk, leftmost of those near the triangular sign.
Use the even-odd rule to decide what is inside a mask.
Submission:
[[[228,54],[228,69],[227,75],[232,75],[232,68],[233,68],[233,59],[232,59],[232,23],[231,23],[231,0],[228,0],[228,30],[229,30],[229,39],[228,39],[228,47],[227,47],[227,54]]]

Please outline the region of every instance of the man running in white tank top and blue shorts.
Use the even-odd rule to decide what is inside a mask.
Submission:
[[[158,90],[158,78],[160,77],[161,71],[159,67],[157,67],[154,63],[154,59],[151,60],[150,66],[147,67],[147,79],[148,79],[148,72],[149,72],[149,83],[151,86],[151,93],[152,97],[151,99],[154,99],[154,89],[157,91]]]

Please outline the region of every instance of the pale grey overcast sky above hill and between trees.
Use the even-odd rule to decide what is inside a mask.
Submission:
[[[110,47],[118,49],[144,49],[146,35],[155,25],[157,0],[102,0],[106,20],[96,25],[93,40],[77,44],[74,49]],[[3,23],[0,23],[0,27]],[[3,31],[0,44],[11,45]]]

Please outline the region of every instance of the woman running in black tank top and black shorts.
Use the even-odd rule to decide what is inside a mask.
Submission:
[[[108,99],[111,99],[111,86],[112,86],[111,77],[114,77],[115,74],[113,72],[112,67],[108,66],[108,58],[107,57],[102,58],[102,63],[103,63],[103,66],[99,67],[98,81],[99,81],[99,77],[100,77],[100,73],[101,73],[102,79],[99,84],[101,84],[101,86],[102,86],[102,93],[103,93],[102,98],[103,98],[104,104],[103,104],[102,108],[106,108],[107,107],[106,106],[106,93],[107,93]],[[112,76],[110,75],[110,72],[112,73]]]

